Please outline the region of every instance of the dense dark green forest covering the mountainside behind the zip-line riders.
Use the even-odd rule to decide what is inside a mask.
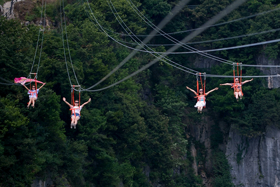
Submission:
[[[178,32],[172,37],[180,41],[191,33],[180,31],[201,27],[233,1],[192,0],[187,5],[195,8],[184,6],[162,30]],[[125,24],[116,19],[110,2]],[[71,111],[62,100],[65,97],[71,102],[71,85],[88,88],[96,84],[132,53],[136,37],[128,36],[126,30],[130,35],[142,35],[141,40],[153,30],[128,2],[158,25],[179,0],[25,0],[25,5],[23,1],[18,2],[20,6],[15,4],[17,18],[0,17],[0,187],[31,187],[35,179],[51,179],[53,187],[203,187],[202,173],[211,179],[212,187],[232,187],[230,166],[220,148],[226,133],[234,129],[255,137],[267,126],[279,124],[279,88],[269,89],[267,78],[246,83],[242,101],[236,102],[230,86],[219,86],[233,78],[207,77],[206,92],[215,87],[219,90],[209,94],[206,108],[198,113],[194,107],[197,99],[186,89],[196,90],[196,76],[165,63],[167,59],[212,75],[232,76],[233,68],[219,61],[210,66],[210,60],[197,53],[179,53],[169,54],[108,89],[81,91],[80,103],[89,98],[91,102],[81,110],[76,129],[71,129]],[[278,0],[248,0],[217,22],[229,23],[205,29],[190,41],[196,43],[191,46],[211,50],[279,39],[279,31],[234,38],[280,28],[280,10],[269,12],[276,8],[280,8]],[[268,12],[240,19],[264,11]],[[46,22],[39,26],[45,15]],[[240,20],[230,22],[236,19]],[[233,38],[218,40],[229,37]],[[203,42],[209,40],[215,41]],[[164,53],[172,47],[164,44],[173,42],[154,36],[148,44]],[[187,51],[179,48],[175,52]],[[209,53],[254,65],[260,55],[279,60],[280,42]],[[152,53],[136,53],[91,90],[126,78],[154,58]],[[208,63],[207,68],[198,66],[198,60]],[[34,108],[26,107],[25,87],[13,83],[14,78],[29,73],[37,73],[37,80],[46,82]],[[260,68],[242,68],[242,76],[261,75]],[[79,99],[79,92],[74,94]],[[188,132],[209,121],[214,123],[211,155]],[[196,158],[191,155],[193,146]]]

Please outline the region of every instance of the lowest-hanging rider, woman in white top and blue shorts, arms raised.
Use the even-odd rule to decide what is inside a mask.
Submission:
[[[70,105],[70,103],[68,103],[65,99],[65,97],[63,98],[63,101],[71,108],[70,110],[72,110],[71,112],[71,129],[74,127],[74,129],[76,129],[76,125],[78,123],[78,120],[81,118],[80,115],[80,111],[82,109],[82,107],[84,107],[86,104],[88,104],[91,99],[89,98],[89,100],[87,102],[85,102],[84,104],[82,104],[81,106],[79,106],[79,101],[75,100],[74,105],[72,106]]]

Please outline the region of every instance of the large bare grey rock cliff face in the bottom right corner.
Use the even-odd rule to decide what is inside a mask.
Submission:
[[[267,127],[255,138],[229,132],[226,155],[235,186],[280,187],[280,129]]]

